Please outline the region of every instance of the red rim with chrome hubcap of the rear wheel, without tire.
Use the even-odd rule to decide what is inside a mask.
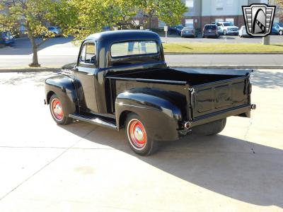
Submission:
[[[132,119],[128,124],[129,141],[134,148],[142,149],[146,146],[146,130],[137,119]]]

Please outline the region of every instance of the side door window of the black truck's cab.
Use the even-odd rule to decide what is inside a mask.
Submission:
[[[80,62],[84,64],[96,64],[96,45],[93,42],[83,45]]]

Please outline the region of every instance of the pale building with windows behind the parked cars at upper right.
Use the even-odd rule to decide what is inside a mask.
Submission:
[[[184,13],[180,23],[187,25],[194,23],[195,28],[202,29],[205,24],[216,21],[230,21],[237,26],[244,25],[242,6],[250,4],[267,4],[268,0],[182,0],[188,8]],[[270,0],[270,4],[274,4]],[[279,19],[282,10],[277,8],[275,22],[283,21]],[[161,28],[165,25],[162,21],[154,20],[151,23],[153,28]]]

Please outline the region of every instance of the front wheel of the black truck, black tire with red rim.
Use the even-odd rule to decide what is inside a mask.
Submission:
[[[56,101],[56,102],[55,102]],[[57,104],[57,102],[59,102]],[[56,105],[55,105],[56,104]],[[57,105],[61,105],[61,100],[57,97],[56,94],[53,94],[50,98],[50,104],[49,104],[49,107],[50,107],[50,113],[52,115],[52,118],[54,119],[54,121],[57,123],[57,124],[60,124],[60,125],[67,125],[67,124],[70,124],[71,121],[73,119],[71,119],[70,117],[66,116],[64,114],[64,111],[62,109],[62,105],[61,105],[61,109],[59,110],[60,112],[58,112],[58,108],[57,108]],[[55,107],[56,106],[56,110],[55,110]],[[59,106],[58,106],[59,107]],[[62,111],[62,112],[61,112]]]

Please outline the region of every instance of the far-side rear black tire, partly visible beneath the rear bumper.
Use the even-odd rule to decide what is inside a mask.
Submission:
[[[203,136],[214,136],[219,134],[226,126],[226,118],[220,119],[207,124],[202,124],[200,126],[195,126],[192,128],[193,134],[200,134]]]

